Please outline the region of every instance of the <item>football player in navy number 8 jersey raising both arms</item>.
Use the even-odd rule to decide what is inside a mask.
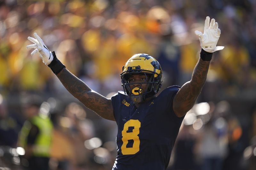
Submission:
[[[215,19],[210,22],[210,17],[206,17],[204,33],[195,33],[202,49],[191,80],[182,87],[168,87],[157,97],[162,69],[148,54],[135,54],[125,63],[121,73],[124,91],[107,99],[70,73],[36,33],[35,38],[28,37],[34,44],[27,48],[36,48],[31,55],[37,53],[85,107],[105,119],[116,121],[117,157],[112,170],[164,170],[169,164],[181,122],[204,86],[212,54],[224,48],[216,47],[220,29]]]

